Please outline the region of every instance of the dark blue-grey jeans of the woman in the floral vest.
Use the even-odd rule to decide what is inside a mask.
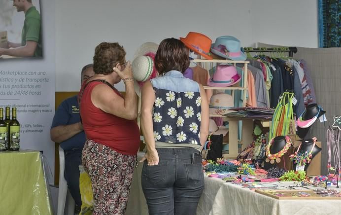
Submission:
[[[204,189],[204,173],[198,150],[157,148],[159,164],[142,169],[142,189],[149,215],[195,215]],[[197,159],[192,164],[193,153]],[[198,159],[199,156],[199,159]]]

